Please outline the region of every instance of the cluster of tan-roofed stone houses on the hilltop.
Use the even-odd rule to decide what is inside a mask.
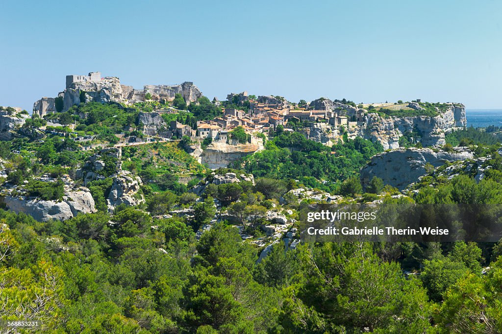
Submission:
[[[229,132],[240,126],[249,134],[268,134],[270,129],[275,129],[278,125],[288,128],[291,122],[314,122],[326,123],[334,127],[348,126],[349,118],[345,116],[346,110],[297,108],[287,101],[274,96],[259,96],[257,99],[249,99],[247,92],[239,94],[229,94],[227,100],[232,103],[244,105],[247,101],[246,110],[236,108],[225,108],[224,114],[211,121],[197,122],[197,129],[192,129],[189,125],[172,121],[170,131],[178,138],[183,135],[205,139],[211,138],[213,141],[227,141]],[[215,98],[213,103],[219,103]],[[357,112],[353,116],[359,120],[363,115]]]

